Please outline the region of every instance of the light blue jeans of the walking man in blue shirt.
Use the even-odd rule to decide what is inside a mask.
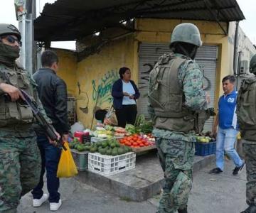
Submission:
[[[236,167],[242,165],[242,160],[234,148],[237,135],[238,131],[236,129],[218,128],[216,143],[216,166],[221,170],[224,168],[224,151],[230,156]]]

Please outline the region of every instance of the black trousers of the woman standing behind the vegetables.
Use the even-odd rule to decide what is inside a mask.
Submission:
[[[137,106],[133,105],[122,105],[122,109],[116,109],[118,126],[125,127],[126,124],[135,124],[137,116]]]

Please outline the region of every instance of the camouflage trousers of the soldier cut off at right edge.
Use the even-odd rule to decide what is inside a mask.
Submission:
[[[244,140],[243,140],[244,142]],[[242,143],[246,164],[246,202],[256,205],[256,142],[255,144]]]

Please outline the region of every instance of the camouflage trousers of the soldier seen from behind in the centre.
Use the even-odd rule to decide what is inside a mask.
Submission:
[[[159,201],[159,213],[184,209],[192,188],[195,144],[182,140],[156,138],[156,147],[165,183]]]

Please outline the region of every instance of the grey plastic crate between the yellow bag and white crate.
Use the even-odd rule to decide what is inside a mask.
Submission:
[[[85,171],[88,169],[88,151],[76,151],[75,149],[70,149],[73,159],[75,161],[75,165],[78,170]]]

